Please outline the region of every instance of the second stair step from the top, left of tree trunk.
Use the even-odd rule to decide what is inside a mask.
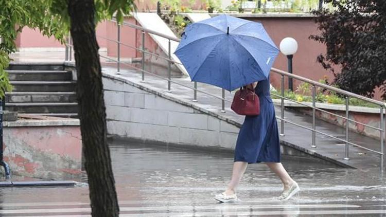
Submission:
[[[71,71],[7,70],[11,81],[72,81]]]

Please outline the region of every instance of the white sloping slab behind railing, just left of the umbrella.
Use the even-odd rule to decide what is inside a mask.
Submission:
[[[177,38],[176,35],[171,31],[171,29],[165,24],[161,17],[156,13],[133,13],[134,18],[137,20],[142,27],[151,29],[156,32],[168,35],[172,38]],[[160,48],[168,55],[169,40],[163,37],[160,37],[155,34],[149,34],[150,37],[160,46]],[[180,59],[176,55],[173,55],[173,52],[176,51],[178,42],[171,41],[170,52],[171,59],[181,63]],[[181,70],[184,75],[188,75],[185,67],[181,64],[176,64],[177,68]]]

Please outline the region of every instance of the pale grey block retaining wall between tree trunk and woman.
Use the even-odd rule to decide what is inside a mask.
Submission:
[[[239,128],[127,83],[103,78],[108,133],[205,147],[235,147]]]

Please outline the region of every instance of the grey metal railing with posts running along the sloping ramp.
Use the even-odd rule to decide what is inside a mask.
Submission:
[[[112,22],[116,22],[116,20],[112,20]],[[138,30],[142,30],[142,49],[139,49],[139,48],[136,48],[136,47],[133,47],[131,45],[127,45],[125,43],[122,43],[120,41],[120,25],[125,25],[125,26],[129,26],[129,27],[132,27],[132,28],[135,28],[135,29],[138,29]],[[205,91],[200,91],[198,90],[197,88],[197,82],[194,82],[194,87],[190,87],[190,86],[187,86],[185,84],[182,84],[182,83],[179,83],[179,82],[176,82],[176,81],[172,81],[171,80],[171,63],[174,63],[174,64],[181,64],[179,62],[176,62],[176,61],[173,61],[171,59],[171,53],[170,53],[170,41],[176,41],[176,42],[180,42],[179,39],[177,38],[173,38],[173,37],[170,37],[169,35],[165,35],[165,34],[162,34],[162,33],[159,33],[159,32],[156,32],[156,31],[153,31],[151,29],[147,29],[147,28],[144,28],[144,27],[141,27],[141,26],[137,26],[137,25],[134,25],[134,24],[130,24],[130,23],[127,23],[127,22],[123,22],[121,24],[118,24],[117,25],[117,30],[118,30],[118,35],[117,35],[117,40],[111,40],[111,39],[108,39],[108,38],[104,38],[104,37],[100,37],[100,38],[104,38],[106,40],[109,40],[109,41],[113,41],[113,42],[116,42],[117,43],[117,46],[118,46],[118,49],[117,49],[117,60],[114,60],[112,58],[109,58],[109,57],[105,57],[105,56],[102,56],[100,55],[100,57],[102,58],[105,58],[105,59],[109,59],[111,61],[114,61],[117,63],[117,74],[120,74],[119,72],[119,66],[120,64],[124,64],[124,65],[127,65],[137,71],[140,71],[142,73],[142,81],[145,81],[145,77],[144,75],[145,74],[149,74],[149,75],[152,75],[154,77],[157,77],[157,78],[160,78],[160,79],[163,79],[163,80],[166,80],[168,81],[168,91],[170,92],[170,84],[171,83],[175,83],[175,84],[178,84],[178,85],[181,85],[183,87],[186,87],[186,88],[189,88],[189,89],[193,89],[194,90],[194,99],[192,101],[194,102],[197,102],[197,92],[200,92],[200,93],[203,93],[203,94],[206,94],[208,96],[212,96],[212,97],[215,97],[217,99],[220,99],[221,100],[221,104],[222,104],[222,109],[221,109],[221,112],[225,112],[225,101],[227,102],[232,102],[231,100],[227,100],[225,99],[225,91],[224,89],[222,89],[222,97],[218,97],[216,95],[213,95],[213,94],[210,94],[210,93],[207,93]],[[148,52],[145,50],[145,32],[147,33],[150,33],[150,34],[154,34],[154,35],[158,35],[160,37],[163,37],[165,39],[168,39],[169,40],[169,50],[168,50],[168,57],[165,58],[165,57],[161,57],[159,55],[155,55],[151,52]],[[127,46],[127,47],[130,47],[130,48],[134,48],[136,50],[139,50],[143,53],[142,55],[142,69],[141,68],[137,68],[135,66],[132,66],[130,64],[127,64],[125,62],[121,62],[120,61],[120,45],[124,45],[124,46]],[[68,60],[68,57],[69,57],[69,60],[71,60],[71,48],[72,48],[72,45],[71,44],[66,44],[66,60]],[[68,50],[69,49],[69,55],[68,55]],[[145,70],[145,54],[149,54],[149,55],[153,55],[153,56],[156,56],[156,57],[159,57],[159,58],[162,58],[162,59],[165,59],[168,61],[168,78],[164,78],[162,76],[159,76],[159,75],[156,75],[154,73],[151,73],[150,71],[146,71]],[[274,96],[277,96],[281,99],[281,117],[276,117],[278,120],[281,120],[281,129],[280,129],[280,136],[284,136],[284,122],[288,122],[290,124],[293,124],[293,125],[296,125],[296,126],[299,126],[303,129],[307,129],[307,130],[310,130],[312,131],[312,145],[311,147],[312,148],[316,148],[316,144],[315,144],[315,134],[316,133],[319,133],[319,134],[322,134],[322,135],[325,135],[325,136],[328,136],[330,138],[334,138],[338,141],[343,141],[346,143],[346,147],[345,147],[345,157],[344,159],[345,160],[348,160],[348,144],[351,144],[355,147],[358,147],[358,148],[361,148],[361,149],[364,149],[364,150],[367,150],[367,151],[370,151],[370,152],[373,152],[373,153],[376,153],[376,154],[379,154],[381,156],[381,159],[380,159],[380,169],[381,169],[381,172],[383,172],[383,162],[384,162],[384,156],[385,156],[385,153],[384,153],[384,143],[383,143],[383,140],[384,140],[384,134],[386,133],[386,124],[384,123],[384,117],[383,117],[383,110],[386,109],[386,103],[384,102],[381,102],[381,101],[377,101],[377,100],[374,100],[374,99],[370,99],[370,98],[367,98],[367,97],[363,97],[361,95],[357,95],[357,94],[354,94],[354,93],[350,93],[350,92],[347,92],[347,91],[343,91],[342,89],[339,89],[339,88],[336,88],[336,87],[332,87],[332,86],[329,86],[329,85],[326,85],[326,84],[323,84],[323,83],[319,83],[319,82],[316,82],[316,81],[313,81],[313,80],[310,80],[310,79],[307,79],[307,78],[304,78],[304,77],[301,77],[301,76],[297,76],[297,75],[294,75],[294,74],[290,74],[290,73],[287,73],[286,71],[284,70],[280,70],[280,69],[276,69],[276,68],[271,68],[271,71],[273,71],[274,73],[277,73],[277,74],[280,74],[282,76],[282,93],[281,93],[281,96],[280,95],[276,95],[276,94],[273,94]],[[307,105],[307,104],[304,104],[304,103],[301,103],[301,102],[298,102],[298,101],[295,101],[295,100],[291,100],[289,98],[286,98],[284,97],[284,78],[285,76],[289,77],[289,78],[293,78],[293,79],[297,79],[297,80],[300,80],[300,81],[303,81],[303,82],[307,82],[307,83],[310,83],[312,84],[312,106],[310,105]],[[328,111],[325,111],[325,110],[322,110],[321,108],[318,108],[316,107],[315,105],[315,102],[316,102],[316,99],[315,99],[315,86],[318,86],[318,87],[322,87],[322,88],[325,88],[325,89],[328,89],[329,91],[334,91],[336,93],[339,93],[339,94],[342,94],[342,95],[345,95],[346,96],[346,117],[344,116],[341,116],[341,115],[337,115],[337,114],[334,114],[334,113],[331,113],[331,112],[328,112]],[[356,120],[353,120],[353,119],[350,119],[349,118],[349,101],[348,101],[348,97],[354,97],[354,98],[357,98],[357,99],[361,99],[363,101],[366,101],[366,102],[370,102],[370,103],[374,103],[374,104],[377,104],[380,106],[380,118],[381,118],[381,122],[380,122],[380,128],[376,128],[374,126],[371,126],[371,125],[368,125],[368,124],[365,124],[365,123],[361,123],[361,122],[358,122]],[[292,121],[289,121],[289,120],[286,120],[284,118],[284,99],[286,100],[290,100],[290,101],[293,101],[295,103],[299,103],[299,104],[302,104],[304,106],[307,106],[307,107],[310,107],[312,108],[312,128],[308,128],[307,126],[304,126],[304,125],[301,125],[301,124],[297,124],[297,123],[294,123]],[[325,112],[327,114],[331,114],[331,115],[335,115],[337,117],[340,117],[340,118],[343,118],[346,123],[345,123],[345,126],[346,126],[346,138],[345,139],[341,139],[341,138],[338,138],[336,136],[332,136],[332,135],[328,135],[326,133],[323,133],[321,131],[318,131],[316,130],[316,125],[315,125],[315,111],[321,111],[321,112]],[[375,130],[378,130],[380,132],[380,143],[381,143],[381,151],[376,151],[376,150],[372,150],[372,149],[369,149],[369,148],[366,148],[366,147],[363,147],[363,146],[360,146],[359,144],[356,144],[356,143],[353,143],[353,142],[350,142],[348,141],[348,122],[355,122],[355,123],[358,123],[358,124],[362,124],[366,127],[369,127],[371,129],[375,129]]]

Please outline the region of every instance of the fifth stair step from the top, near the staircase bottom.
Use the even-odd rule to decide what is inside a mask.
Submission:
[[[78,103],[7,103],[6,110],[18,113],[78,113]]]

